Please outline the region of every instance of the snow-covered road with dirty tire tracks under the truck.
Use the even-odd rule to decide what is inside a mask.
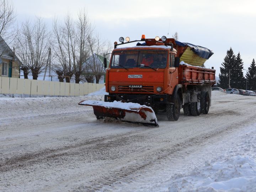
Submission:
[[[226,150],[256,158],[256,97],[213,92],[207,115],[160,114],[159,128],[96,120],[77,105],[102,98],[0,100],[0,191],[179,191]]]

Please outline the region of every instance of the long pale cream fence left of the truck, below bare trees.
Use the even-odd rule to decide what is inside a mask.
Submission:
[[[75,84],[0,77],[0,94],[79,96],[98,91],[102,87],[104,84]]]

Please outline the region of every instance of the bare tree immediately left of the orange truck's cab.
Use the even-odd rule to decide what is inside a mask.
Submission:
[[[90,68],[91,74],[95,76],[96,83],[99,83],[101,76],[104,74],[103,56],[110,52],[110,42],[103,41],[99,35],[89,37],[88,43],[91,52],[91,59],[87,60],[87,68]]]

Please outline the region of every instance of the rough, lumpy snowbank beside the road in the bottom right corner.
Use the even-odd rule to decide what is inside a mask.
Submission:
[[[218,92],[218,91],[216,91]],[[256,124],[248,129],[254,130]],[[245,130],[247,132],[247,130]],[[256,190],[256,136],[225,146],[222,156],[206,161],[187,175],[175,174],[169,191],[255,191]]]

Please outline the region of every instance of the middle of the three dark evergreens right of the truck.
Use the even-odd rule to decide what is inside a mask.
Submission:
[[[236,55],[235,65],[230,70],[230,86],[237,89],[245,89],[246,80],[243,73],[244,62],[242,62],[241,55]],[[231,81],[232,79],[232,81]],[[231,83],[232,82],[232,83]]]

